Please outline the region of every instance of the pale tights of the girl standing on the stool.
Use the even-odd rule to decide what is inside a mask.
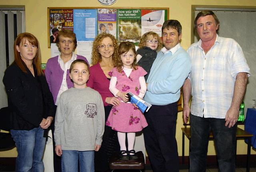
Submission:
[[[125,133],[117,132],[120,150],[126,151]],[[128,151],[134,149],[135,133],[127,133]]]

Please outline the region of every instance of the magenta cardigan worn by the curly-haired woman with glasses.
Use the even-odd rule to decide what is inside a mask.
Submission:
[[[109,106],[109,104],[106,103],[107,97],[114,97],[114,95],[109,90],[109,83],[110,81],[107,79],[102,68],[100,67],[100,63],[90,67],[90,77],[86,86],[100,93],[104,106]]]

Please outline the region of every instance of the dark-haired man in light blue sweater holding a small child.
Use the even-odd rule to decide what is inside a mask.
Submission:
[[[158,52],[147,80],[144,100],[152,107],[145,114],[148,127],[143,131],[146,150],[154,172],[178,172],[175,138],[180,88],[188,77],[191,63],[180,46],[182,26],[167,20],[162,26],[164,47]]]

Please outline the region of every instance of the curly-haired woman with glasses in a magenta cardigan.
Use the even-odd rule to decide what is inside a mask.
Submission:
[[[119,106],[120,101],[109,90],[110,76],[108,72],[116,66],[118,56],[118,43],[115,37],[109,33],[101,33],[93,42],[92,65],[90,78],[87,86],[98,91],[102,96],[105,109],[105,122],[112,106]],[[95,152],[94,166],[96,171],[106,172],[109,170],[108,159],[112,152],[119,151],[117,132],[105,125],[102,145]]]

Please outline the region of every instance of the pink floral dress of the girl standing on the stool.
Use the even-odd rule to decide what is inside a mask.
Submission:
[[[138,66],[137,70],[132,70],[129,77],[126,76],[124,71],[122,73],[118,72],[116,68],[113,68],[108,74],[109,76],[116,76],[116,88],[118,90],[131,92],[138,96],[140,92],[139,77],[146,75],[147,72]],[[131,103],[120,102],[120,106],[112,107],[106,125],[116,131],[131,133],[141,131],[148,126],[148,123],[142,112]]]

